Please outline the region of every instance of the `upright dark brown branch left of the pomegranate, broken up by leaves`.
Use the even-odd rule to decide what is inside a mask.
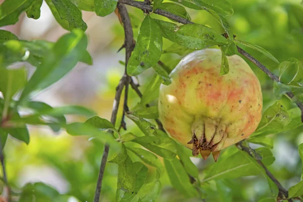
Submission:
[[[120,98],[121,98],[121,94],[122,94],[122,90],[123,90],[124,86],[125,86],[125,92],[126,92],[125,93],[126,103],[124,103],[124,106],[127,105],[127,94],[128,94],[127,91],[128,91],[128,84],[130,82],[130,77],[126,73],[126,66],[127,66],[128,60],[131,56],[131,52],[134,48],[134,46],[133,46],[133,32],[132,32],[132,27],[131,27],[131,24],[130,24],[130,19],[129,19],[128,12],[127,12],[125,6],[122,5],[122,4],[118,3],[117,8],[118,8],[118,11],[120,13],[119,20],[121,19],[121,21],[123,23],[123,26],[124,26],[124,31],[125,31],[124,44],[125,44],[126,54],[125,54],[125,72],[124,72],[122,78],[120,79],[119,84],[116,88],[116,95],[115,95],[115,100],[114,100],[114,104],[113,104],[111,123],[114,126],[116,125],[118,108],[119,108],[119,104],[120,104]],[[101,189],[102,189],[102,180],[103,180],[103,176],[104,176],[104,171],[105,171],[107,158],[108,158],[108,155],[109,155],[109,150],[110,150],[110,145],[106,143],[105,147],[104,147],[102,160],[101,160],[101,165],[100,165],[100,170],[99,170],[99,174],[98,174],[96,191],[95,191],[93,202],[99,202],[100,192],[101,192]]]

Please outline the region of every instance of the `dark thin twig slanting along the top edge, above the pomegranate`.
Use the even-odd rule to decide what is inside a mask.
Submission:
[[[147,5],[144,2],[137,2],[137,1],[132,1],[132,0],[119,0],[118,2],[122,3],[122,4],[132,6],[132,7],[136,7],[138,9],[141,9],[144,13],[148,13],[148,12],[153,11],[153,7]],[[182,24],[193,24],[193,22],[191,22],[190,20],[179,17],[175,14],[172,14],[168,11],[164,11],[164,10],[161,10],[161,9],[156,9],[156,11],[154,11],[154,13],[156,13],[158,15],[161,15],[161,16],[164,16],[164,17],[167,17],[169,19],[175,20],[175,21],[177,21],[179,23],[182,23]]]

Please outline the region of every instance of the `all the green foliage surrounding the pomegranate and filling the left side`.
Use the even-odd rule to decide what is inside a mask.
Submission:
[[[270,106],[264,112],[258,129],[247,139],[247,142],[264,146],[252,151],[255,159],[236,147],[230,147],[226,149],[217,164],[207,168],[202,183],[196,166],[189,159],[190,150],[157,129],[151,120],[147,120],[157,119],[159,115],[156,106],[146,107],[146,105],[158,98],[161,83],[164,85],[171,83],[170,69],[159,63],[162,54],[184,56],[197,49],[218,45],[222,51],[221,75],[224,75],[229,72],[227,56],[235,55],[236,43],[240,43],[278,63],[264,48],[234,38],[234,33],[226,20],[226,16],[233,14],[233,9],[227,1],[173,0],[172,2],[175,3],[154,1],[153,10],[161,9],[187,20],[191,20],[191,17],[183,6],[198,11],[205,10],[223,27],[226,34],[222,35],[205,25],[179,25],[176,24],[177,22],[153,18],[149,14],[146,14],[142,23],[137,24],[136,27],[140,27],[139,34],[127,65],[127,73],[137,76],[151,67],[156,72],[147,84],[140,102],[126,114],[126,117],[140,129],[141,133],[138,134],[127,131],[122,134],[111,122],[95,117],[94,112],[83,107],[52,108],[45,103],[32,100],[35,94],[71,71],[77,62],[92,63],[86,51],[87,37],[84,31],[87,25],[82,20],[81,10],[92,11],[104,17],[115,11],[117,1],[47,0],[46,3],[57,22],[71,31],[55,43],[43,40],[19,40],[11,32],[0,30],[0,91],[3,93],[3,98],[0,99],[2,148],[5,146],[8,134],[29,143],[27,125],[46,125],[55,132],[65,128],[71,135],[89,135],[106,141],[116,151],[108,161],[118,165],[116,201],[155,201],[161,191],[160,179],[164,170],[172,186],[188,198],[207,197],[211,192],[209,182],[212,180],[216,182],[218,190],[223,190],[225,185],[222,179],[261,174],[268,180],[272,196],[262,201],[274,201],[278,194],[276,184],[255,159],[261,160],[267,166],[274,162],[275,158],[270,150],[273,148],[273,141],[267,135],[301,126],[298,108],[287,110],[279,101]],[[4,1],[0,5],[2,11],[0,26],[15,24],[22,12],[26,12],[29,18],[38,19],[41,4],[41,0]],[[131,19],[134,24],[134,16],[131,16]],[[172,44],[163,48],[163,38],[170,40]],[[36,67],[35,73],[28,81],[26,68],[11,67],[16,62],[28,62]],[[292,91],[295,93],[295,101],[301,102],[303,97],[301,63],[296,59],[289,59],[280,64],[279,72],[280,82],[274,83],[277,98]],[[21,116],[22,111],[26,111],[26,115]],[[84,123],[66,123],[64,115],[68,114],[94,117]],[[302,146],[299,148],[300,155],[303,153],[302,148]],[[137,161],[134,160],[134,156],[138,158]],[[147,166],[157,169],[152,180],[147,179]],[[303,194],[301,184],[302,181],[290,188],[289,197]],[[33,193],[33,189],[37,191]],[[34,194],[44,200],[53,201],[67,201],[69,197],[60,196],[56,190],[40,183],[27,184],[20,197],[31,200],[28,197],[33,197]]]

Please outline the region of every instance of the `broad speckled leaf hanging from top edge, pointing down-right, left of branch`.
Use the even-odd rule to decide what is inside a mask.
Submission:
[[[50,3],[50,0],[46,0],[46,3]],[[55,16],[57,22],[63,28],[70,31],[75,28],[82,29],[83,31],[87,29],[86,23],[82,20],[81,11],[69,0],[52,0],[52,4],[48,4],[48,6]],[[58,16],[60,18],[58,18]]]

